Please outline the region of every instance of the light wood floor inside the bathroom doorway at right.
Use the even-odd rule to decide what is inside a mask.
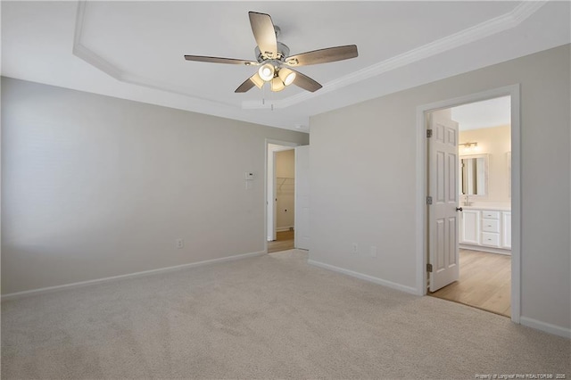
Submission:
[[[459,281],[429,293],[510,317],[511,256],[460,250]]]

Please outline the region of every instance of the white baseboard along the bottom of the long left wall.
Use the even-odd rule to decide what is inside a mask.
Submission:
[[[0,300],[1,301],[17,300],[17,299],[23,298],[23,297],[29,297],[32,295],[38,295],[38,294],[42,294],[42,293],[52,293],[52,292],[57,292],[57,291],[63,290],[63,289],[72,289],[72,288],[77,288],[77,287],[82,287],[82,286],[87,286],[87,285],[95,285],[95,284],[102,284],[102,283],[106,283],[106,282],[116,281],[116,280],[120,280],[123,278],[142,277],[142,276],[154,275],[154,274],[159,274],[159,273],[171,272],[171,271],[185,269],[185,268],[200,267],[203,265],[209,265],[209,264],[214,264],[214,263],[218,263],[218,262],[247,259],[249,257],[261,256],[264,254],[266,254],[265,251],[242,253],[242,254],[237,254],[234,256],[221,257],[219,259],[189,262],[187,264],[175,265],[174,267],[158,268],[158,269],[144,270],[142,272],[128,273],[127,275],[103,277],[103,278],[97,278],[95,280],[80,281],[78,283],[42,287],[39,289],[26,290],[23,292],[4,294],[4,295],[0,296]]]

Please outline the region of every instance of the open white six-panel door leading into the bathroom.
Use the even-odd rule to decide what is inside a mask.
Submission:
[[[458,123],[449,110],[435,111],[428,128],[428,280],[435,292],[459,278]]]

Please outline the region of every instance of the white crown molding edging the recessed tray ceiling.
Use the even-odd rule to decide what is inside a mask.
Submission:
[[[461,45],[467,45],[485,37],[490,37],[501,31],[517,27],[521,22],[529,18],[534,12],[537,12],[549,0],[539,1],[523,1],[518,4],[512,11],[502,14],[501,16],[492,18],[488,21],[476,24],[473,27],[460,30],[450,36],[440,38],[426,45],[419,46],[403,54],[395,55],[385,61],[378,62],[364,69],[354,71],[341,78],[336,78],[323,85],[323,88],[316,93],[303,92],[302,94],[292,95],[282,100],[276,101],[244,101],[241,104],[243,110],[277,110],[291,107],[294,104],[306,102],[312,98],[325,95],[336,91],[340,88],[350,86],[368,78],[377,77],[391,70],[399,69],[413,62],[418,62],[443,52],[457,48]],[[132,85],[153,88],[173,94],[185,95],[193,103],[209,103],[210,105],[223,105],[235,108],[232,103],[214,101],[207,98],[198,97],[189,94],[183,87],[173,86],[171,84],[162,83],[153,78],[129,73],[122,70],[112,62],[105,60],[102,56],[95,54],[82,41],[83,25],[86,19],[87,0],[79,0],[78,12],[76,16],[75,32],[73,38],[72,53],[79,59],[94,66],[96,69],[102,70],[107,75],[121,82]]]

